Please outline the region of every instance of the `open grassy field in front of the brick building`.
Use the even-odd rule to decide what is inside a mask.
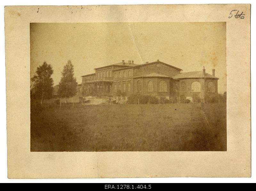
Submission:
[[[31,151],[226,151],[224,104],[31,108]]]

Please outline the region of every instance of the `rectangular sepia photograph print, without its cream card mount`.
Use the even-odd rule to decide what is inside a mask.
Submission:
[[[30,23],[30,151],[227,151],[226,22]]]

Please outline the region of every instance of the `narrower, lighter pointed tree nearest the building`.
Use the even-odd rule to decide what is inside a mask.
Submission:
[[[65,102],[67,103],[67,98],[76,95],[76,78],[74,77],[74,66],[69,60],[64,66],[62,72],[62,77],[59,84],[59,94],[65,96]]]

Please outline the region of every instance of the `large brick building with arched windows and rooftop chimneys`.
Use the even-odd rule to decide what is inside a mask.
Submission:
[[[192,98],[195,95],[218,96],[218,79],[215,70],[212,75],[205,69],[181,73],[182,69],[157,60],[145,64],[128,61],[95,68],[95,73],[82,76],[79,94],[117,97],[126,92],[152,96]]]

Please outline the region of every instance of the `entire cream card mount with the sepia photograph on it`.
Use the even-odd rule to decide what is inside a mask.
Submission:
[[[250,177],[250,11],[6,6],[8,177]]]

